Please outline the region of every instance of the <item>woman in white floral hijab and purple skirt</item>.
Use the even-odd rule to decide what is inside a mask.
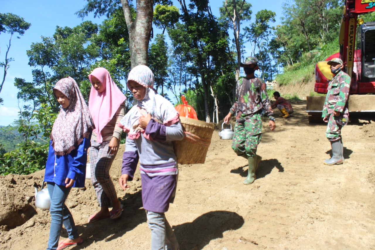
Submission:
[[[172,141],[182,140],[184,133],[171,102],[153,89],[154,74],[144,65],[134,67],[127,86],[138,104],[121,120],[127,132],[119,183],[125,190],[134,176],[138,160],[142,180],[142,202],[151,229],[151,249],[177,250],[174,232],[165,218],[173,202],[177,185],[177,158]]]

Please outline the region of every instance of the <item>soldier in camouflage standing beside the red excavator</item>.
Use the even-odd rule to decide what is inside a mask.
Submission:
[[[327,122],[326,137],[331,143],[332,157],[324,161],[324,164],[335,165],[344,163],[341,128],[347,123],[349,110],[347,108],[350,76],[342,71],[344,64],[339,58],[328,61],[332,78],[327,88],[326,101],[323,106],[323,120]]]

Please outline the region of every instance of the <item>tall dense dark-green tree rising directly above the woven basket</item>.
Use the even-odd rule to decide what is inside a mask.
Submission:
[[[168,29],[168,34],[175,53],[183,54],[189,60],[188,71],[196,78],[193,81],[195,90],[204,100],[205,120],[209,122],[210,92],[217,118],[217,95],[213,85],[221,74],[226,74],[226,65],[232,61],[228,57],[228,34],[226,27],[212,15],[208,1],[194,1],[189,8],[182,0],[178,2],[183,12],[182,23],[176,24],[175,29]]]

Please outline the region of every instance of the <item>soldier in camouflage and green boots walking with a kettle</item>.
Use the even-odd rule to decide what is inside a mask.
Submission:
[[[254,72],[258,68],[258,60],[255,57],[246,57],[245,63],[241,63],[246,77],[240,78],[236,85],[236,102],[225,116],[224,122],[228,122],[233,114],[236,115],[236,125],[232,148],[237,155],[248,159],[248,177],[243,184],[252,184],[255,181],[255,171],[262,157],[257,155],[257,148],[262,138],[262,109],[269,116],[269,125],[274,130],[275,118],[267,95],[267,86],[262,78],[255,77]]]

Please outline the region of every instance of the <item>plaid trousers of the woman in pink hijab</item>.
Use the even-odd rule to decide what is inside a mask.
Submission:
[[[98,143],[91,140],[90,148],[90,169],[91,183],[96,192],[99,206],[112,206],[112,200],[117,199],[117,193],[110,178],[110,169],[114,158],[117,155],[108,154],[110,141]]]

